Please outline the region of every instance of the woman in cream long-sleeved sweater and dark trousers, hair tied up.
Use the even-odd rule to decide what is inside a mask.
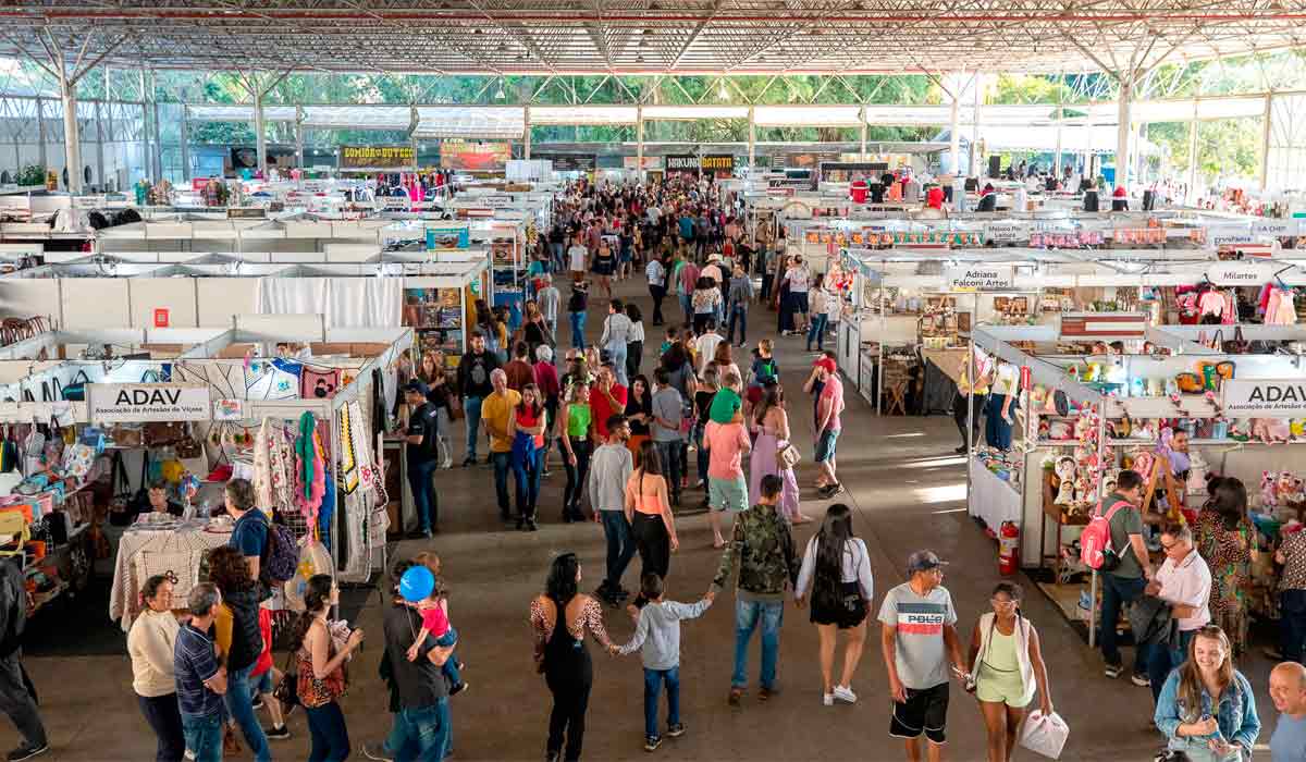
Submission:
[[[132,622],[127,652],[132,657],[132,690],[145,721],[158,736],[155,762],[180,762],[185,754],[182,712],[176,703],[176,676],[172,673],[172,647],[180,626],[172,616],[172,586],[176,578],[155,574],[145,580],[141,599],[145,610]]]

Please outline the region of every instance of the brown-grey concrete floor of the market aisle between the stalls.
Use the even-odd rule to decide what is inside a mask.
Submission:
[[[640,298],[650,315],[643,281],[618,286],[619,295]],[[597,336],[601,312],[590,311],[589,331]],[[679,308],[667,301],[667,316]],[[774,314],[755,308],[754,341],[774,335]],[[765,331],[759,328],[765,325]],[[649,328],[644,369],[653,362],[661,333]],[[804,485],[803,510],[814,518],[827,503],[811,499],[815,469],[810,460],[810,433],[803,412],[810,400],[798,391],[811,361],[801,339],[777,340],[777,358],[790,393],[797,440],[807,456],[799,481]],[[957,433],[944,417],[875,417],[865,401],[849,395],[845,433],[840,440],[840,474],[848,494],[840,499],[854,508],[854,529],[871,550],[875,574],[875,606],[889,587],[904,579],[906,555],[932,548],[951,559],[946,587],[952,592],[964,639],[981,613],[987,610],[991,586],[998,580],[995,544],[965,512],[965,473],[953,455]],[[458,437],[461,439],[461,435]],[[457,444],[456,444],[457,446]],[[549,562],[563,550],[580,554],[586,588],[602,576],[603,535],[598,524],[562,524],[560,501],[564,476],[560,468],[545,485],[541,499],[543,523],[538,533],[504,531],[494,506],[492,472],[486,467],[438,472],[441,533],[430,544],[401,542],[396,553],[411,554],[431,548],[444,559],[453,591],[452,620],[462,634],[460,655],[468,664],[471,690],[452,701],[456,758],[538,759],[543,755],[549,691],[532,664],[528,605],[542,589]],[[697,498],[691,491],[690,499]],[[710,548],[705,515],[678,520],[682,538],[673,555],[667,586],[677,600],[696,600],[708,588],[720,554]],[[799,527],[795,540],[806,544],[816,524]],[[639,559],[626,576],[637,587]],[[1151,716],[1148,690],[1127,681],[1102,677],[1101,659],[1070,625],[1025,583],[1025,613],[1038,626],[1047,659],[1053,698],[1071,727],[1063,759],[1151,759],[1161,738],[1147,725]],[[358,623],[370,634],[351,667],[351,687],[343,699],[355,750],[375,745],[389,727],[387,694],[376,677],[381,651],[380,596],[368,599]],[[861,701],[854,706],[820,704],[820,672],[816,630],[807,610],[789,606],[781,638],[780,686],[782,695],[759,703],[754,693],[742,708],[731,710],[725,698],[733,660],[733,595],[722,593],[716,605],[683,630],[682,715],[688,733],[667,740],[658,755],[682,759],[747,759],[750,762],[816,759],[902,758],[901,744],[887,735],[889,698],[878,648],[878,629],[870,630],[866,656],[853,682]],[[99,618],[102,610],[88,610]],[[629,618],[609,610],[607,626],[626,639],[633,630]],[[76,631],[61,637],[76,639]],[[759,671],[756,640],[750,677]],[[125,656],[29,659],[26,665],[40,691],[42,712],[55,759],[148,759],[154,740],[141,718],[131,690]],[[637,759],[643,750],[643,677],[639,656],[613,659],[592,646],[596,680],[588,716],[588,759]],[[1126,655],[1128,656],[1128,654]],[[278,663],[279,663],[278,656]],[[836,671],[841,661],[836,661]],[[1259,655],[1242,665],[1260,694],[1267,742],[1273,727],[1268,701],[1269,665]],[[953,686],[949,711],[947,758],[982,759],[983,725],[980,712],[959,686]],[[663,703],[665,712],[665,703]],[[308,732],[302,714],[290,720],[295,737],[273,745],[278,758],[307,757]],[[12,725],[0,728],[0,749],[16,745]],[[1034,759],[1017,752],[1019,759]]]

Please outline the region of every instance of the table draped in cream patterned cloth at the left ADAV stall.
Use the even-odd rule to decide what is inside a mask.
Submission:
[[[155,529],[133,524],[123,532],[118,545],[118,558],[114,562],[114,584],[108,593],[108,618],[121,618],[123,631],[132,629],[132,620],[141,610],[138,592],[145,579],[137,579],[140,565],[136,557],[141,553],[158,554],[155,558],[178,561],[172,571],[182,580],[179,589],[189,589],[197,580],[199,558],[205,550],[226,545],[231,538],[230,524],[223,531],[212,531],[206,520],[180,522],[174,528]],[[184,599],[183,599],[184,600]]]

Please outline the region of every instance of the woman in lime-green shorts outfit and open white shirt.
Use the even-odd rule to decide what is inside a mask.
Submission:
[[[1053,714],[1038,631],[1020,613],[1020,586],[999,582],[970,634],[966,668],[974,676],[980,714],[989,733],[989,762],[1010,762],[1016,750],[1016,732],[1025,720],[1025,707],[1038,690],[1038,711]]]

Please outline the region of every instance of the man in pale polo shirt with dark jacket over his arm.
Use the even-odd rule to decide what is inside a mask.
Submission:
[[[1211,567],[1192,546],[1192,529],[1187,524],[1166,524],[1161,529],[1161,548],[1165,562],[1145,592],[1170,604],[1170,616],[1179,623],[1179,638],[1174,648],[1161,643],[1152,646],[1147,672],[1153,702],[1161,695],[1170,671],[1188,659],[1194,633],[1211,622]]]

